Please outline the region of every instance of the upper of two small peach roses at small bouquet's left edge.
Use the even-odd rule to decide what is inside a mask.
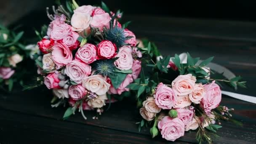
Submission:
[[[155,99],[154,97],[147,97],[147,100],[146,101],[143,101],[143,107],[145,107],[145,109],[148,111],[148,112],[155,112],[155,113],[159,113],[161,111],[161,108],[158,107],[156,104],[155,104]]]

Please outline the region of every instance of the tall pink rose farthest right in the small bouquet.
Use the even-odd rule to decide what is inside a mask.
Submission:
[[[221,89],[215,81],[208,85],[204,85],[204,88],[206,93],[201,100],[201,106],[204,108],[205,112],[211,112],[211,109],[218,107],[221,102]]]

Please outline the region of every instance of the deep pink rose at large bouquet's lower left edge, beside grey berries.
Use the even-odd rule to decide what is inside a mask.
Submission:
[[[46,87],[48,89],[51,89],[51,88],[60,88],[59,86],[59,78],[58,78],[58,73],[56,72],[53,72],[51,74],[48,74],[46,77],[45,77],[45,80],[44,80],[44,83],[46,85]]]

